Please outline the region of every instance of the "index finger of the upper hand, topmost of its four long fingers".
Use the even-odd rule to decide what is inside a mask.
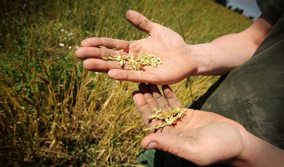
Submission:
[[[129,41],[118,40],[112,38],[87,38],[81,42],[82,47],[97,47],[105,46],[108,49],[115,48],[116,50],[123,49],[128,53],[129,51]]]

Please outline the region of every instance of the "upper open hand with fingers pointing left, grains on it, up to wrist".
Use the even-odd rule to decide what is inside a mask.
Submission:
[[[196,63],[191,50],[183,38],[176,32],[160,24],[149,21],[135,11],[128,11],[126,18],[139,30],[149,34],[145,39],[125,41],[111,38],[88,38],[81,42],[76,51],[83,65],[89,71],[108,73],[112,79],[136,83],[173,84],[194,75]],[[108,49],[100,48],[105,46]],[[112,50],[116,48],[117,51]],[[118,51],[118,50],[124,51]],[[153,54],[163,59],[158,67],[144,66],[143,71],[126,70],[131,65],[120,67],[116,61],[104,61],[101,57],[109,55],[132,55],[138,53]]]

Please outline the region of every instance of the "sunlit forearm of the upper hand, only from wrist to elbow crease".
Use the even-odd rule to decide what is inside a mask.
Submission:
[[[241,34],[222,36],[207,44],[191,45],[196,75],[223,75],[248,61],[258,46]]]

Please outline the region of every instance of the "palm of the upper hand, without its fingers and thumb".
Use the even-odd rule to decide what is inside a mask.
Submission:
[[[129,45],[130,55],[147,53],[163,59],[163,63],[157,68],[143,68],[149,75],[148,79],[152,79],[146,83],[173,84],[194,71],[195,61],[190,57],[190,50],[179,34],[159,24],[149,34],[148,38],[131,41]]]

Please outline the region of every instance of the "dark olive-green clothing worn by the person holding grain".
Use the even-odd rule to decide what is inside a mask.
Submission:
[[[253,57],[214,83],[189,108],[210,111],[243,125],[253,135],[284,149],[284,1],[257,0],[275,24]],[[138,164],[196,166],[159,150],[142,150]],[[211,166],[228,166],[214,164]]]

